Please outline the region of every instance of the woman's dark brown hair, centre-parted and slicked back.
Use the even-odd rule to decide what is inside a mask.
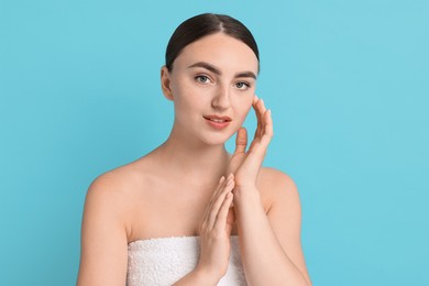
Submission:
[[[165,66],[173,70],[173,63],[185,46],[215,33],[222,32],[246,44],[260,61],[256,41],[249,29],[239,20],[229,15],[205,13],[193,16],[183,22],[174,31],[165,52]]]

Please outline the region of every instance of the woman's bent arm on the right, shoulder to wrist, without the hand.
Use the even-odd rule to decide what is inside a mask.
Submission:
[[[273,173],[273,172],[271,172]],[[300,204],[294,182],[270,175],[266,215],[257,189],[234,190],[234,206],[249,285],[311,285],[300,245]]]

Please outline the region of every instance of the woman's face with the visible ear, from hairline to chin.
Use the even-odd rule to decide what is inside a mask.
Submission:
[[[176,132],[223,144],[252,107],[257,69],[253,51],[223,33],[187,45],[172,73],[162,69],[164,95],[174,101]]]

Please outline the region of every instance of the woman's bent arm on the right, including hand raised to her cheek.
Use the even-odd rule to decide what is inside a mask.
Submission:
[[[273,136],[273,122],[271,111],[257,97],[253,108],[257,118],[254,139],[246,152],[246,131],[240,129],[230,162],[235,174],[234,208],[245,276],[250,285],[310,285],[300,248],[295,184],[283,174],[264,179],[273,182],[267,188],[274,194],[268,215],[261,201],[256,180]]]

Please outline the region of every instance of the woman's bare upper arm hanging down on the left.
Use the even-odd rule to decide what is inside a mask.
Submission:
[[[105,174],[88,189],[81,226],[78,286],[125,285],[128,240],[120,193]],[[123,205],[122,205],[123,206]]]

